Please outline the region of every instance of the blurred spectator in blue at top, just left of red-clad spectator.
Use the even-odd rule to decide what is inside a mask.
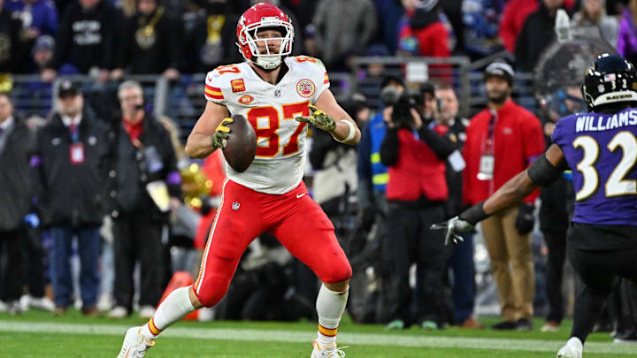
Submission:
[[[498,27],[503,13],[503,1],[464,0],[464,50],[474,59],[503,50]]]

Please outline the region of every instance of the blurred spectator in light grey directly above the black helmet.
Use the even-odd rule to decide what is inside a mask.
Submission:
[[[581,9],[573,15],[571,26],[575,27],[579,34],[601,37],[610,43],[610,46],[617,47],[618,19],[606,15],[605,0],[584,0]]]

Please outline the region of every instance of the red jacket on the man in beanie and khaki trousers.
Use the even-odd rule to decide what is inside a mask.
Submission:
[[[494,178],[479,180],[480,156],[488,136],[489,122],[493,118],[488,109],[473,116],[466,130],[464,142],[463,200],[471,205],[486,200],[509,179],[540,156],[545,149],[540,120],[528,110],[508,100],[497,111],[494,124]],[[525,202],[534,202],[540,192],[535,190]]]

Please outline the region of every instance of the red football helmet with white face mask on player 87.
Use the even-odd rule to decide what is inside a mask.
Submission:
[[[257,31],[264,27],[276,27],[282,37],[257,39]],[[237,46],[243,57],[257,65],[272,70],[280,65],[281,58],[292,52],[294,27],[285,12],[272,4],[256,4],[243,12],[237,23]],[[280,41],[278,53],[271,53],[267,42]],[[265,42],[266,53],[259,53],[257,42]],[[257,57],[255,59],[255,57]]]

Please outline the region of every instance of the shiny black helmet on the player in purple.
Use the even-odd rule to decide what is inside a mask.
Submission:
[[[581,91],[591,112],[605,104],[637,102],[637,71],[624,57],[603,54],[588,66]]]

